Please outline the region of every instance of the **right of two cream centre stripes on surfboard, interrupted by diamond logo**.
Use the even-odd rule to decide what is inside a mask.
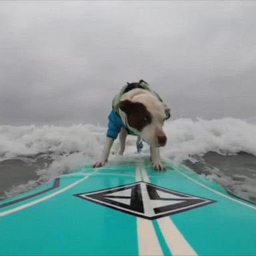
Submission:
[[[144,167],[141,167],[141,174],[143,181],[151,183],[149,176],[147,175],[147,171]],[[189,245],[185,237],[183,237],[169,216],[157,219],[157,223],[160,227],[163,237],[165,238],[165,242],[167,243],[169,250],[173,255],[197,255],[197,253],[194,251],[191,245]]]

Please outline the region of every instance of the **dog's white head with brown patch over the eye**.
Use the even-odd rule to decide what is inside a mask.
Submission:
[[[149,91],[134,89],[131,93],[126,93],[119,102],[121,117],[152,147],[165,146],[163,124],[171,117],[170,109]]]

